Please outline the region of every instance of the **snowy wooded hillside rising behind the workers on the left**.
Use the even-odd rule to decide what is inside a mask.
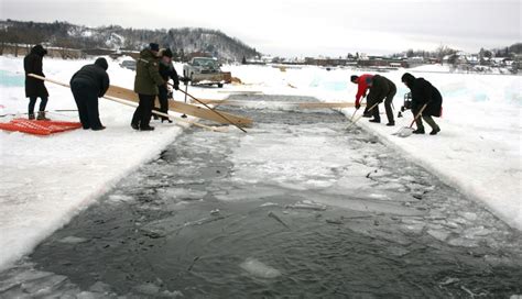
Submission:
[[[39,44],[66,48],[140,51],[150,42],[171,47],[180,58],[200,52],[227,60],[259,56],[255,48],[238,38],[208,29],[143,30],[118,25],[87,27],[67,22],[37,23],[0,21],[0,43]]]

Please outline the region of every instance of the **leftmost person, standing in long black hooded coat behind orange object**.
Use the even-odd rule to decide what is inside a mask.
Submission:
[[[45,107],[47,106],[48,92],[44,81],[28,76],[29,74],[45,77],[42,70],[43,56],[47,51],[42,45],[35,45],[31,52],[23,58],[23,68],[25,70],[25,97],[29,98],[29,119],[34,120],[34,106],[40,98],[40,109],[37,120],[48,120],[45,118]]]

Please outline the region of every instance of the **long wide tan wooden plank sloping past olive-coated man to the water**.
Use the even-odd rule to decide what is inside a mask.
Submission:
[[[129,100],[129,101],[133,101],[133,102],[139,102],[140,101],[140,99],[138,97],[138,93],[135,93],[133,90],[127,89],[127,88],[123,88],[123,87],[119,87],[119,86],[113,86],[113,85],[111,85],[109,87],[109,90],[107,90],[106,95],[109,96],[109,97],[115,97],[115,98],[118,98],[118,99]],[[168,110],[172,110],[172,111],[178,112],[178,113],[193,115],[193,117],[196,117],[196,118],[199,118],[199,119],[205,119],[205,120],[209,120],[209,121],[214,121],[214,122],[218,122],[218,123],[229,124],[225,119],[222,119],[221,117],[219,117],[215,112],[213,112],[208,109],[198,107],[198,106],[194,106],[194,104],[188,104],[188,103],[177,102],[177,101],[168,101]],[[225,112],[221,112],[221,111],[219,111],[219,113],[226,115],[230,121],[232,121],[237,125],[240,125],[240,126],[251,126],[252,125],[252,120],[251,119],[242,118],[242,117],[238,117],[238,115],[233,115],[233,114],[229,114],[229,113],[225,113]]]

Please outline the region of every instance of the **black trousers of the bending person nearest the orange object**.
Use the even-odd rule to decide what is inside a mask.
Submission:
[[[98,111],[99,90],[84,80],[74,80],[70,84],[79,121],[84,129],[99,129],[102,126]]]

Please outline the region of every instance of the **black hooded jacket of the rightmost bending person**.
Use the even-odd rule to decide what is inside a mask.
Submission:
[[[415,78],[410,73],[402,76],[402,81],[412,91],[412,110],[421,109],[425,103],[423,115],[441,117],[443,96],[429,81]]]

